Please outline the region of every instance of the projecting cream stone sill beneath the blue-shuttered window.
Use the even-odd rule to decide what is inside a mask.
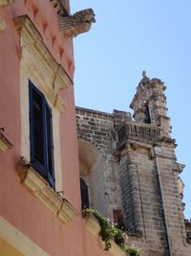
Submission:
[[[57,194],[49,183],[39,175],[24,157],[21,157],[17,173],[24,187],[32,192],[53,214],[62,222],[73,221],[78,215],[74,206],[65,198]]]

